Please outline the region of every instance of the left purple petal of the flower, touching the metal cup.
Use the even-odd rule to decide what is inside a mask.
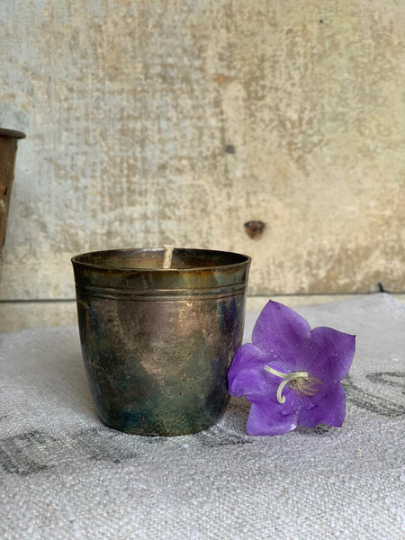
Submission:
[[[255,345],[246,343],[239,347],[229,367],[229,394],[266,398],[270,388],[265,365],[266,356]]]

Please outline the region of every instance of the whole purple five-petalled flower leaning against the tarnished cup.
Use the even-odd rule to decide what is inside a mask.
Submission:
[[[310,325],[278,302],[268,302],[229,368],[229,394],[252,407],[250,435],[281,435],[297,426],[340,427],[346,413],[340,381],[355,355],[356,337]]]

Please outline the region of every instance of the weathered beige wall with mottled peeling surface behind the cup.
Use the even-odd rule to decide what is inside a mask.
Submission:
[[[164,242],[251,255],[250,293],[403,291],[404,28],[394,0],[2,0],[0,298]]]

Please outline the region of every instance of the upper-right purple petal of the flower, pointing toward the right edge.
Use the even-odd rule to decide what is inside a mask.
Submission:
[[[355,348],[356,336],[326,327],[313,329],[302,368],[321,381],[341,381],[352,364]]]

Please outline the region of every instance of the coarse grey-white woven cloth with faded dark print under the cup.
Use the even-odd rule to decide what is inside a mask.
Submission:
[[[76,328],[0,335],[0,538],[403,540],[405,306],[297,311],[357,335],[343,428],[250,437],[240,398],[201,434],[121,434],[97,418]]]

